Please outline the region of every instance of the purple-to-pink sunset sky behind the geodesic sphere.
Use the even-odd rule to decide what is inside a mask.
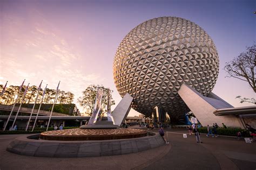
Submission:
[[[255,1],[0,1],[0,84],[39,85],[71,91],[77,98],[90,84],[112,89],[117,47],[148,19],[175,16],[202,27],[213,39],[220,73],[213,93],[234,107],[236,96],[254,97],[247,82],[228,78],[223,68],[256,41]],[[78,105],[78,104],[77,104]],[[114,105],[112,110],[116,107]],[[138,115],[132,110],[129,116]]]

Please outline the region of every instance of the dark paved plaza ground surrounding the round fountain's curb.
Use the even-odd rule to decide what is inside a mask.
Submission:
[[[167,132],[170,131],[170,132]],[[0,136],[0,169],[256,169],[256,142],[207,138],[196,143],[183,130],[166,130],[170,144],[152,150],[94,158],[40,158],[9,153],[11,140],[23,134]],[[166,135],[167,137],[167,135]]]

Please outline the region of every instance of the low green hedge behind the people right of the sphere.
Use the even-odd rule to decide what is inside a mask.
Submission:
[[[250,133],[247,130],[240,129],[240,128],[217,128],[217,134],[218,135],[224,135],[224,136],[237,136],[237,132],[241,132],[243,137],[249,137]],[[200,133],[208,133],[207,127],[199,128]]]

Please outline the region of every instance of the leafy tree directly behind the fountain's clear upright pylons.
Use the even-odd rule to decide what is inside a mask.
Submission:
[[[84,91],[83,91],[83,96],[78,98],[78,103],[85,109],[86,114],[91,116],[93,112],[93,108],[95,105],[95,99],[96,99],[96,94],[97,94],[97,89],[102,88],[103,89],[103,96],[102,96],[102,114],[106,112],[106,107],[107,107],[107,91],[109,88],[105,88],[103,86],[99,85],[94,85],[91,84],[88,86]],[[110,98],[111,98],[111,104],[115,104],[112,98],[112,90],[110,93]]]

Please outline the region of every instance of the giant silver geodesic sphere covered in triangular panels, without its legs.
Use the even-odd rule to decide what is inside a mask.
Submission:
[[[181,84],[206,96],[218,73],[218,53],[210,36],[177,17],[136,26],[120,43],[113,62],[114,83],[122,97],[133,97],[133,109],[151,115],[158,106],[176,119],[189,110],[177,93]]]

